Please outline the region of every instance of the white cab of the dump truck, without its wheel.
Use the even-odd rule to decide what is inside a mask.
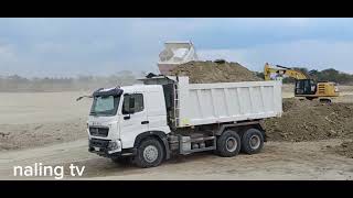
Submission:
[[[92,153],[110,158],[135,155],[143,135],[163,139],[170,133],[160,85],[99,89],[93,99],[87,121]]]

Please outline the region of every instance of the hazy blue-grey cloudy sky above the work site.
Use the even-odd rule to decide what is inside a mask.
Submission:
[[[0,75],[157,72],[163,42],[203,59],[353,73],[353,19],[0,19]]]

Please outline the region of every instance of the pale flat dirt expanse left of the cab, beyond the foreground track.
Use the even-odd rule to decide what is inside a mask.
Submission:
[[[0,92],[0,151],[86,138],[87,92]]]

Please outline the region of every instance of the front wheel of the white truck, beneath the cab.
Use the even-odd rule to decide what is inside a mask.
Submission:
[[[163,158],[162,144],[156,139],[147,139],[138,146],[133,163],[139,167],[148,168],[160,165]]]

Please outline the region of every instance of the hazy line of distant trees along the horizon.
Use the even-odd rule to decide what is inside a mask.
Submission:
[[[341,85],[353,85],[353,75],[339,72],[333,68],[324,70],[308,70],[299,67],[318,81],[334,81]],[[133,74],[129,70],[119,72],[110,76],[77,76],[77,77],[41,77],[25,78],[18,75],[0,76],[0,92],[21,92],[21,91],[76,91],[76,90],[96,90],[100,87],[126,86],[138,82],[146,73]],[[264,73],[256,73],[264,79]],[[285,84],[292,84],[295,79],[285,78]]]

